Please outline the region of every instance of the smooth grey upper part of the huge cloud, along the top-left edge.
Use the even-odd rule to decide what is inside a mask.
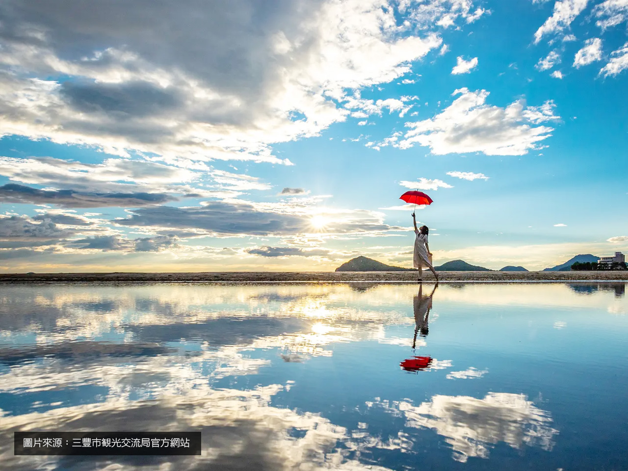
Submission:
[[[271,31],[296,33],[290,20],[308,18],[320,7],[320,0],[295,4],[291,0],[125,0],[93,2],[85,8],[82,0],[52,4],[46,0],[6,0],[0,9],[3,28],[0,37],[47,45],[59,55],[92,57],[103,45],[128,50],[144,60],[170,70],[173,64],[210,82],[218,94],[259,97],[269,82],[268,60],[273,53]],[[24,23],[46,31],[45,43],[26,35]],[[242,34],[246,31],[246,34]],[[127,67],[136,63],[129,55]],[[94,68],[117,65],[124,59],[104,51],[88,64]],[[131,64],[128,64],[130,62]],[[129,68],[131,68],[129,67]],[[230,92],[230,93],[229,93]]]

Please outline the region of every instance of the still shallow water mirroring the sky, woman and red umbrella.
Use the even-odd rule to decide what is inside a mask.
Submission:
[[[1,467],[628,469],[624,283],[432,290],[4,285]],[[16,457],[19,430],[201,430],[203,452]]]

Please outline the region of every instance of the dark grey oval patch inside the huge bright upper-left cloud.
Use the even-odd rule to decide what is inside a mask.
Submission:
[[[61,95],[78,111],[104,112],[118,118],[154,116],[180,105],[176,90],[163,89],[148,82],[99,84],[63,82]]]

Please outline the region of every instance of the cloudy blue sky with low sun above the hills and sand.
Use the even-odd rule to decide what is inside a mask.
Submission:
[[[4,0],[0,272],[628,252],[628,0]]]

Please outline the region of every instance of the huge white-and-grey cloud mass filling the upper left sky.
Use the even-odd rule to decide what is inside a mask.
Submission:
[[[36,13],[4,2],[1,134],[123,156],[289,165],[271,144],[344,121],[335,100],[346,90],[390,82],[440,48],[436,33],[416,28],[425,7],[436,19],[469,16],[440,0],[404,6],[403,23],[386,0],[269,2],[139,0],[88,16],[70,14],[80,0]]]

